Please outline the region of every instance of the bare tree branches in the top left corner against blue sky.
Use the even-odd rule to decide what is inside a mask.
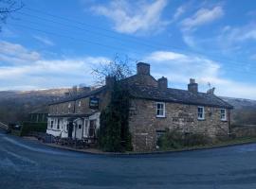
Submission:
[[[0,0],[0,31],[2,28],[2,24],[7,23],[7,19],[11,14],[19,9],[24,7],[24,3],[22,1],[15,0]]]

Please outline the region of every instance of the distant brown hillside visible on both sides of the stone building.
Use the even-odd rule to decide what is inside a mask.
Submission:
[[[0,121],[21,122],[29,112],[47,110],[47,104],[64,96],[71,89],[49,89],[37,91],[0,92]],[[234,106],[232,123],[235,125],[256,125],[256,100],[220,96]]]

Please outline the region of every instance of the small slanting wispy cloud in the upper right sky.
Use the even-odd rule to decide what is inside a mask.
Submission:
[[[192,17],[186,18],[181,22],[184,30],[190,30],[197,26],[209,24],[224,15],[224,10],[220,6],[213,9],[199,9]]]

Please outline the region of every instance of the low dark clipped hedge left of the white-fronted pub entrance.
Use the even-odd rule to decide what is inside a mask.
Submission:
[[[26,136],[30,132],[46,132],[47,123],[24,122],[21,129],[21,136]]]

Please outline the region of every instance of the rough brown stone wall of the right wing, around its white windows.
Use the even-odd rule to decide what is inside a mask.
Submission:
[[[179,129],[183,132],[203,133],[210,137],[227,136],[229,122],[221,121],[220,109],[205,107],[205,119],[197,119],[197,106],[165,103],[166,116],[156,117],[156,102],[133,99],[129,127],[134,150],[155,150],[156,130]],[[227,120],[229,120],[227,110]]]

